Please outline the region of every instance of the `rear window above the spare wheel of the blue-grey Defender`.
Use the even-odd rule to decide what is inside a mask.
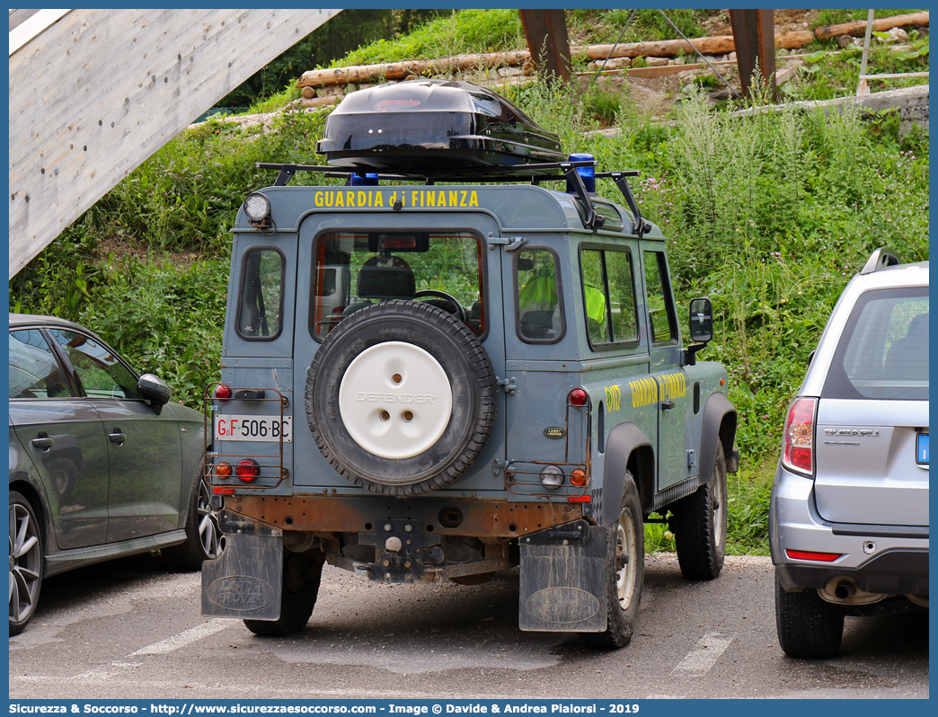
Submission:
[[[420,300],[485,330],[482,245],[471,232],[336,232],[319,237],[310,332],[317,339],[379,301]]]

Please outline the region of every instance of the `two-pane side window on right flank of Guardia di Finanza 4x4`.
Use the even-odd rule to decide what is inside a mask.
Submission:
[[[631,253],[584,249],[580,262],[590,344],[637,344],[639,334]]]

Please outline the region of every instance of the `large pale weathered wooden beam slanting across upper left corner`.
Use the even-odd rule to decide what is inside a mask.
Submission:
[[[9,276],[340,10],[48,12],[10,13]]]

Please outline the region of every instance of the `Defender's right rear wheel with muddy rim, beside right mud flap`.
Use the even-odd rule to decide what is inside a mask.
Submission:
[[[609,527],[606,542],[606,631],[586,633],[601,649],[624,648],[635,632],[644,581],[642,501],[631,473],[626,472],[619,520]]]

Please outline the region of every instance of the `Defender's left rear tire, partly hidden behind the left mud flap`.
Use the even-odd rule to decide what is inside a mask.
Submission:
[[[283,556],[283,581],[280,588],[280,618],[244,621],[251,633],[262,637],[298,633],[306,627],[319,595],[325,555],[319,552],[289,553]]]

